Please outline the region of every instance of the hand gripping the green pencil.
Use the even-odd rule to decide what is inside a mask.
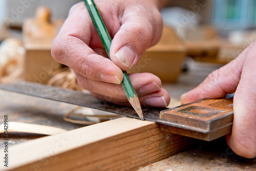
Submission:
[[[53,41],[53,58],[72,68],[77,82],[96,98],[129,105],[120,86],[121,70],[131,69],[144,51],[160,39],[164,1],[95,1],[113,38],[110,57],[83,2],[74,5]],[[166,107],[170,96],[150,73],[130,74],[142,106]]]

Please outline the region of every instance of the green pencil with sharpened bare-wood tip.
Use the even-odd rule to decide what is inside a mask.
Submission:
[[[111,46],[111,37],[106,29],[104,22],[99,14],[99,11],[94,3],[93,0],[83,0],[84,3],[86,4],[86,7],[88,9],[88,12],[93,20],[93,24],[99,34],[99,37],[102,41],[102,44],[106,50],[106,53],[108,54],[110,58],[110,46]],[[135,109],[136,113],[139,115],[141,120],[144,120],[143,113],[141,110],[140,102],[137,93],[134,90],[134,87],[131,83],[131,80],[129,76],[127,75],[126,71],[123,71],[123,81],[121,82],[121,86],[123,88],[123,91]]]

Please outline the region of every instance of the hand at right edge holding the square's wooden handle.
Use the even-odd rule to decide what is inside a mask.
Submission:
[[[234,153],[256,156],[256,41],[236,59],[212,72],[194,90],[181,96],[182,103],[220,98],[234,93],[232,134],[226,136]]]

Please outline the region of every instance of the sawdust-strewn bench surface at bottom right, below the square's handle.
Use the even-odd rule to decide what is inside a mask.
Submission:
[[[226,145],[225,139],[220,138],[202,142],[200,146],[139,169],[145,170],[256,170],[256,159],[246,159],[234,154]]]

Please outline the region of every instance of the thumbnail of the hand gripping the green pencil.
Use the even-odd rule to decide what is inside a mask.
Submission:
[[[133,50],[127,46],[123,46],[116,52],[115,55],[117,56],[118,60],[122,63],[122,65],[129,68],[131,67],[136,56]]]

